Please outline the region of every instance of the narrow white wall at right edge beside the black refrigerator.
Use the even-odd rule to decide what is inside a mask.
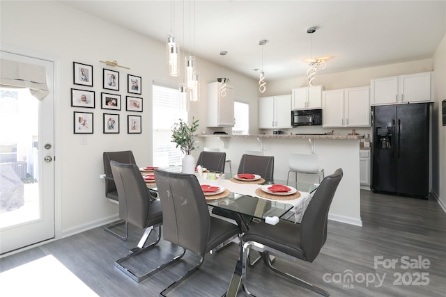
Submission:
[[[433,56],[435,70],[435,104],[433,105],[433,180],[432,192],[446,211],[446,126],[443,126],[441,103],[446,99],[446,35]]]

